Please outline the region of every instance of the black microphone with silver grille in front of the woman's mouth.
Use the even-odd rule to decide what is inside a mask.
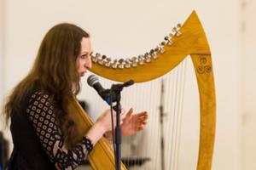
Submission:
[[[90,77],[87,78],[87,83],[90,87],[96,90],[96,92],[102,97],[104,101],[108,103],[108,105],[110,105],[110,89],[103,88],[98,77],[95,75],[90,75]]]

